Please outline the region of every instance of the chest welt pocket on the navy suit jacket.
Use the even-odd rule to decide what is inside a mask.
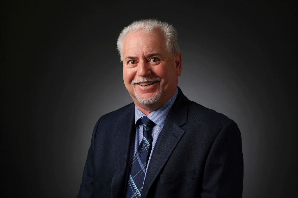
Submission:
[[[159,177],[159,183],[194,179],[196,170],[197,169],[162,173]]]

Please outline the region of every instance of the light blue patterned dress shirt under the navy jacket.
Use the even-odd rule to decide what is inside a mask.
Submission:
[[[166,121],[167,114],[169,113],[170,109],[172,108],[172,106],[173,106],[173,104],[174,104],[174,102],[177,98],[177,95],[178,95],[178,88],[176,88],[176,92],[174,93],[174,95],[167,102],[165,102],[158,109],[152,111],[148,116],[143,114],[138,108],[135,107],[136,138],[135,138],[135,143],[134,143],[134,155],[136,155],[138,147],[139,147],[139,145],[140,145],[140,143],[142,142],[142,139],[143,139],[143,125],[142,125],[141,122],[137,122],[137,121],[141,117],[145,116],[145,117],[148,117],[150,120],[152,120],[152,122],[155,123],[155,125],[154,125],[154,127],[152,128],[152,131],[151,131],[153,142],[152,142],[152,149],[151,149],[151,153],[150,153],[150,156],[149,156],[149,160],[148,160],[148,164],[147,164],[147,168],[146,168],[146,172],[145,172],[144,181],[145,181],[145,178],[146,178],[147,169],[148,169],[148,166],[149,166],[149,163],[150,163],[152,153],[154,151],[155,144],[157,142],[157,139],[159,137],[160,132],[162,131],[162,128],[164,127],[164,123]]]

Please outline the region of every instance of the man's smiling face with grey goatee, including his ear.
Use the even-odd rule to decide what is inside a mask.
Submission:
[[[181,74],[181,54],[171,56],[162,33],[129,33],[123,42],[123,79],[137,106],[159,107],[174,94]]]

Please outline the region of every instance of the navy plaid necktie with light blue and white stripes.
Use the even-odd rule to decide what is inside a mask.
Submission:
[[[142,117],[141,122],[144,130],[143,139],[131,164],[125,197],[141,197],[146,167],[152,148],[151,129],[154,123],[147,117]]]

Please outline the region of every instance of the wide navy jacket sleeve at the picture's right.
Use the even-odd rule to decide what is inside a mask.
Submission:
[[[201,197],[242,197],[243,154],[241,134],[228,122],[212,144],[203,173]]]

